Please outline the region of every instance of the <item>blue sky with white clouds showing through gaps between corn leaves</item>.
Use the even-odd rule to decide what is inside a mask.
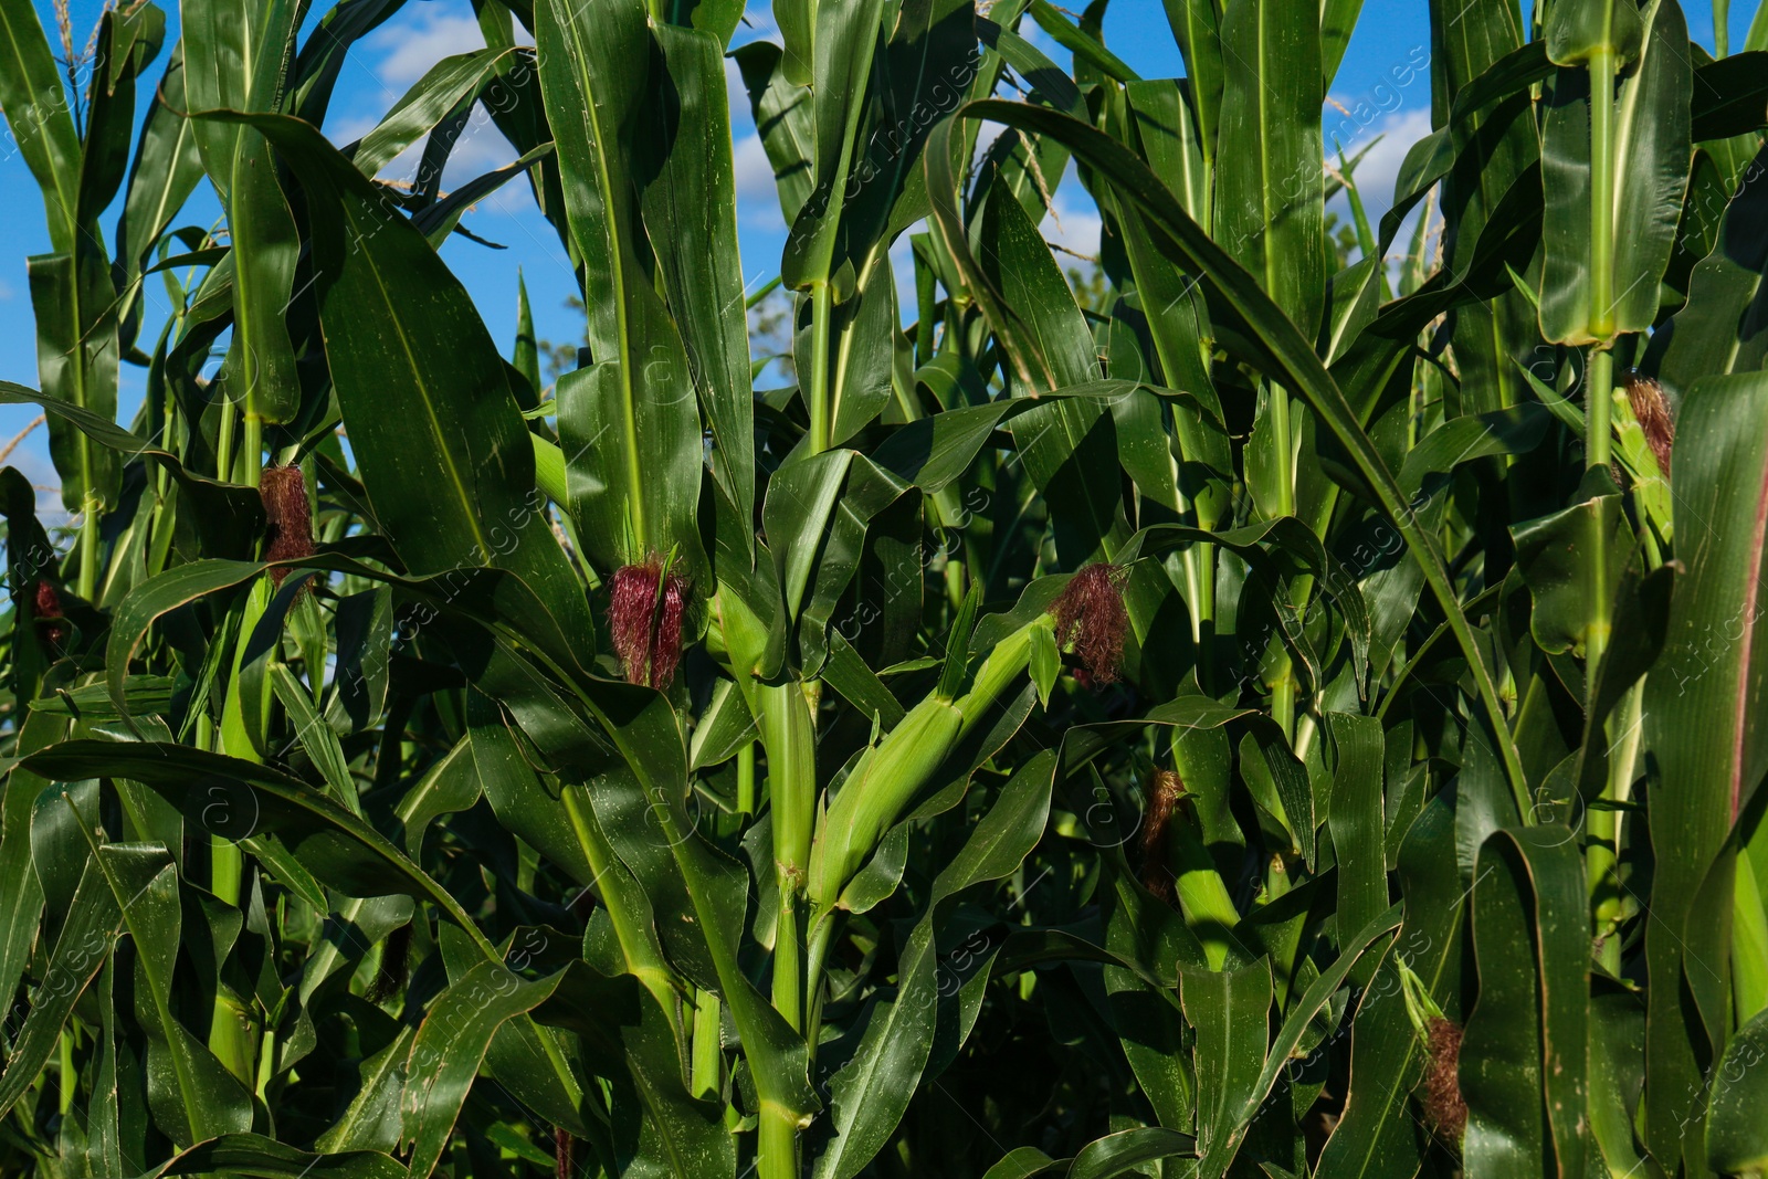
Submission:
[[[325,7],[325,4],[315,4],[315,16],[309,18],[309,23]],[[39,0],[37,11],[51,30],[53,44],[50,2]],[[76,41],[85,39],[99,11],[101,0],[72,0]],[[1733,44],[1741,42],[1752,14],[1754,5],[1733,4]],[[1713,21],[1711,11],[1704,4],[1696,4],[1688,11],[1688,25],[1697,41],[1711,46]],[[1066,51],[1043,37],[1031,21],[1025,21],[1025,30],[1054,60],[1068,64]],[[175,35],[177,11],[173,9],[168,11],[168,48]],[[760,4],[751,4],[748,23],[737,32],[735,44],[755,39],[776,39],[771,12]],[[1179,51],[1160,0],[1116,0],[1105,19],[1105,41],[1144,78],[1183,74]],[[1420,72],[1409,87],[1395,87],[1390,74],[1397,65],[1416,62],[1418,53],[1429,49],[1429,44],[1425,0],[1367,0],[1333,85],[1335,103],[1342,110],[1360,115],[1354,140],[1344,143],[1345,154],[1353,154],[1381,136],[1358,171],[1365,200],[1370,203],[1370,216],[1379,216],[1390,203],[1393,177],[1406,148],[1430,129],[1429,76]],[[352,49],[325,124],[327,136],[336,143],[355,140],[371,129],[430,65],[447,55],[479,46],[483,46],[483,39],[472,16],[470,0],[412,0],[398,16]],[[156,62],[143,87],[159,80],[163,65],[164,57]],[[780,205],[773,193],[773,175],[760,141],[755,138],[748,101],[734,64],[728,78],[744,278],[751,279],[753,286],[760,286],[778,270],[787,226],[780,216]],[[145,103],[145,90],[141,97]],[[1342,126],[1344,115],[1338,110],[1328,108],[1326,113],[1328,126]],[[514,152],[490,120],[474,120],[454,148],[449,171],[444,177],[444,189],[488,168],[509,163],[513,157]],[[408,166],[408,161],[400,159],[389,164],[382,175],[403,175]],[[1086,191],[1073,182],[1071,175],[1057,189],[1052,203],[1052,216],[1043,224],[1045,235],[1078,253],[1093,253],[1098,244],[1098,217],[1093,214]],[[104,217],[108,233],[115,233],[115,217],[120,209],[122,200],[118,198],[117,207]],[[205,182],[186,207],[179,224],[207,226],[216,217],[217,205]],[[564,306],[566,297],[576,290],[571,267],[552,226],[534,207],[525,182],[511,182],[490,200],[481,202],[463,217],[463,224],[476,235],[506,246],[506,249],[486,249],[454,235],[442,247],[444,260],[472,292],[495,339],[507,348],[514,334],[518,269],[527,279],[537,334],[560,341],[580,336],[580,316]],[[0,226],[4,226],[4,233],[0,233],[0,378],[37,387],[25,258],[46,251],[50,242],[42,226],[42,200],[35,180],[9,140],[0,143]],[[154,339],[157,323],[163,322],[166,311],[164,292],[149,283],[147,325],[141,332],[145,341]],[[143,377],[145,369],[131,364],[122,366],[120,401],[126,422],[140,405]],[[34,414],[25,407],[0,407],[0,445],[32,417]],[[25,470],[34,483],[55,484],[55,472],[48,461],[48,438],[42,430],[25,440],[9,461]],[[50,509],[51,497],[46,495],[42,500],[44,509]]]

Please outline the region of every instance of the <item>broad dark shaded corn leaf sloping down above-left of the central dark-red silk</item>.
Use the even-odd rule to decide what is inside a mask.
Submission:
[[[467,290],[318,131],[285,117],[249,122],[324,210],[315,269],[325,354],[378,530],[415,574],[509,569],[575,643],[591,643],[582,587],[539,511],[529,431]]]

